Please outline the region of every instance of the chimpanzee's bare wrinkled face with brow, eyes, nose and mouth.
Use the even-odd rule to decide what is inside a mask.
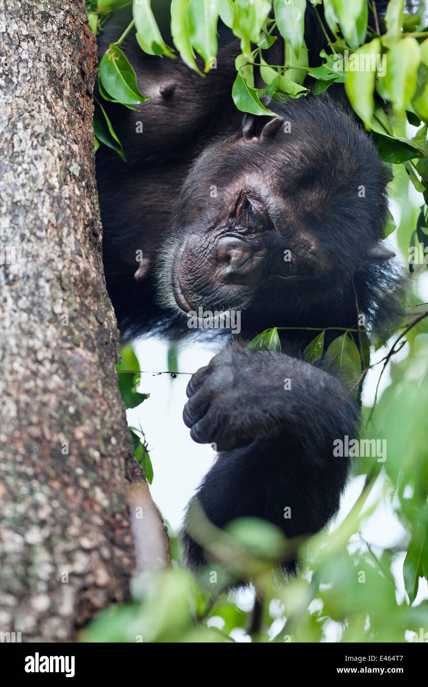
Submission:
[[[275,281],[278,289],[278,282],[314,280],[333,268],[317,236],[285,223],[293,208],[269,189],[268,178],[250,174],[211,186],[214,197],[207,189],[205,207],[193,208],[197,216],[174,251],[172,289],[181,310],[242,307],[262,284]]]

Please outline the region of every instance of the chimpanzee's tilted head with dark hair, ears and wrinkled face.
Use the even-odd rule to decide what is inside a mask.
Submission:
[[[161,268],[182,311],[242,307],[261,289],[267,308],[291,287],[316,301],[361,261],[394,255],[380,243],[387,179],[368,135],[325,95],[272,106],[209,146],[185,182]]]

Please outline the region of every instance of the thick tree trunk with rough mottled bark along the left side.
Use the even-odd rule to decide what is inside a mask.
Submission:
[[[135,562],[86,21],[79,0],[0,5],[0,631],[22,641],[71,640]]]

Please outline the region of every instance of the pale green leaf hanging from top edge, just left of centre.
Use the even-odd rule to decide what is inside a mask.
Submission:
[[[217,54],[217,0],[190,0],[188,24],[190,41],[209,71]]]

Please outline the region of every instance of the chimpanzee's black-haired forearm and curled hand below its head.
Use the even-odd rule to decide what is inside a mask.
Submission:
[[[333,455],[333,441],[356,436],[359,413],[333,375],[283,353],[226,349],[194,374],[188,395],[183,417],[194,440],[228,451],[196,493],[214,525],[260,517],[296,537],[334,515],[348,459]],[[191,513],[184,542],[199,565]]]

